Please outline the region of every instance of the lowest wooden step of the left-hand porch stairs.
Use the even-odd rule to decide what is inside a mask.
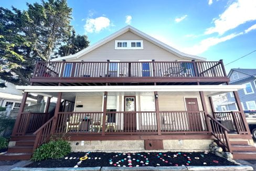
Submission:
[[[0,161],[28,160],[32,153],[5,153],[0,155]]]

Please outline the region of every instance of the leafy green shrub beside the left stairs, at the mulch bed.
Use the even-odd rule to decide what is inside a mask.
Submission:
[[[41,161],[43,159],[56,159],[68,155],[71,152],[70,143],[66,140],[51,140],[49,143],[42,144],[38,147],[33,157],[34,161]]]

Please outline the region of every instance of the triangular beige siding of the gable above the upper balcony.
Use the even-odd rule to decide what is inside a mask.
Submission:
[[[115,40],[143,40],[143,49],[115,50]],[[155,59],[155,61],[187,60],[177,57],[152,44],[152,42],[133,34],[131,31],[127,31],[125,34],[73,61],[106,61],[107,59],[120,61],[138,61],[143,59]]]

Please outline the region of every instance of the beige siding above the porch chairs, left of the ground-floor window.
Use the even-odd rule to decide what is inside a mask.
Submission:
[[[77,96],[76,105],[83,105],[83,108],[76,108],[76,112],[101,112],[102,96],[101,95],[83,95]]]

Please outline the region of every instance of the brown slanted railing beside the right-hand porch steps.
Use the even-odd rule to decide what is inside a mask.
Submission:
[[[212,126],[211,134],[217,138],[219,143],[221,143],[223,146],[225,146],[225,148],[227,149],[228,152],[232,153],[231,144],[230,144],[229,137],[228,137],[229,130],[227,129],[227,127],[225,127],[224,125],[219,123],[211,115],[207,114],[207,116],[210,117],[210,119],[211,119],[210,120],[210,123]]]

